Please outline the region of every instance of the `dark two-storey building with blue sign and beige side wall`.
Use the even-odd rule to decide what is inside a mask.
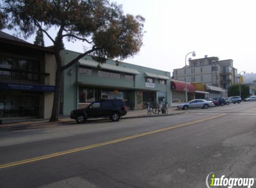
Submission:
[[[56,61],[50,48],[0,31],[0,123],[50,118]]]

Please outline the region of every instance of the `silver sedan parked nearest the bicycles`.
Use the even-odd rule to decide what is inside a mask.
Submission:
[[[189,108],[209,108],[214,107],[214,103],[212,101],[206,101],[204,99],[194,99],[187,103],[183,103],[177,106],[178,109],[188,110]]]

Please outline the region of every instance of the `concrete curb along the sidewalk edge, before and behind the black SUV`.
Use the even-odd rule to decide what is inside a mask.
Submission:
[[[153,117],[163,117],[163,116],[171,116],[171,115],[178,115],[178,114],[185,114],[186,112],[178,112],[175,114],[153,114],[153,115],[138,115],[138,116],[131,116],[131,117],[122,117],[122,119],[136,119],[136,118],[153,118]],[[36,127],[46,127],[48,125],[61,125],[65,123],[73,123],[75,120],[66,121],[66,122],[47,122],[47,123],[38,123],[38,124],[31,124],[31,125],[17,125],[17,126],[0,126],[1,131],[19,131],[25,130],[30,128]]]

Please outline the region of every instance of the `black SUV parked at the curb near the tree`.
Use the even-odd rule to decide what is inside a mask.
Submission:
[[[120,117],[127,114],[126,105],[122,99],[101,99],[92,102],[88,107],[72,110],[71,119],[76,119],[77,123],[83,123],[89,118],[110,118],[114,122],[119,121]]]

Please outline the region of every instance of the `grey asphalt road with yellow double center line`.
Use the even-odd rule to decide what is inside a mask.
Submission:
[[[256,102],[0,132],[0,188],[206,188],[256,178],[255,146]]]

